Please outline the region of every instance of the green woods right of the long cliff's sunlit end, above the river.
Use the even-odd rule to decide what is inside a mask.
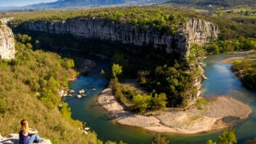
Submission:
[[[255,11],[227,10],[216,11],[205,19],[216,23],[220,29],[219,40],[205,45],[211,53],[230,51],[248,51],[256,49],[256,17],[250,16]]]

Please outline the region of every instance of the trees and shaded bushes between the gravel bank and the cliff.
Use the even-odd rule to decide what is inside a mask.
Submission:
[[[170,60],[170,54],[149,48],[126,54],[116,52],[111,58],[113,93],[125,106],[143,113],[149,109],[184,107],[195,97],[195,79],[202,76],[198,60],[205,55],[202,47],[192,45],[190,56],[184,60]],[[132,76],[149,93],[136,93],[120,84],[122,79]]]

